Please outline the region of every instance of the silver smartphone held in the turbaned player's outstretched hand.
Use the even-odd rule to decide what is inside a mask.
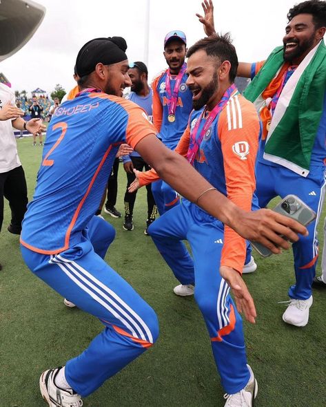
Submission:
[[[316,218],[316,212],[295,195],[285,196],[285,198],[283,198],[283,200],[281,200],[281,202],[274,207],[273,211],[297,220],[298,223],[301,223],[304,226],[309,225],[309,223]],[[268,257],[273,254],[270,249],[263,246],[261,243],[250,243],[252,244],[252,247],[254,247],[254,249],[256,249],[256,251],[263,257]]]

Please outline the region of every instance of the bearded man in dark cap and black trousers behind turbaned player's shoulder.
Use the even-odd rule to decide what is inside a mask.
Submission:
[[[152,101],[153,101],[153,91],[148,85],[148,71],[147,66],[141,62],[136,61],[130,64],[130,69],[128,70],[128,75],[132,82],[131,92],[126,97],[126,99],[131,100],[132,102],[138,104],[143,108],[148,116],[152,117]],[[130,193],[128,188],[134,180],[134,169],[137,171],[147,171],[150,169],[150,166],[141,158],[141,155],[136,151],[130,153],[130,155],[123,156],[123,168],[127,173],[127,188],[125,189],[125,220],[123,222],[123,229],[133,230],[134,223],[132,215],[134,212],[134,202],[136,200],[136,192]],[[147,220],[145,227],[145,235],[147,235],[147,228],[155,220],[155,215],[157,207],[155,205],[154,197],[152,194],[152,187],[150,184],[146,186],[147,189]]]

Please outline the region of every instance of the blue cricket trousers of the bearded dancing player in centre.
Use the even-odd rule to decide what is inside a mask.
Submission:
[[[249,380],[241,316],[221,278],[223,224],[191,202],[167,211],[148,232],[181,284],[195,283],[194,297],[210,334],[225,391],[234,394]],[[188,240],[192,257],[181,240]]]

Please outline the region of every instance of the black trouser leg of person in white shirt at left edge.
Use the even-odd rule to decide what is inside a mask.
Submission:
[[[28,204],[27,185],[23,167],[8,172],[3,194],[9,201],[11,221],[8,230],[13,234],[21,233],[21,223]]]

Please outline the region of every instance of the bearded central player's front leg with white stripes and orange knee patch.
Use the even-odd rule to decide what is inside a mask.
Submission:
[[[242,319],[230,296],[229,286],[219,274],[222,227],[218,221],[210,223],[208,220],[202,224],[194,221],[187,233],[194,257],[194,296],[210,334],[214,360],[225,392],[234,395],[251,380],[255,393],[254,377],[247,367]]]

